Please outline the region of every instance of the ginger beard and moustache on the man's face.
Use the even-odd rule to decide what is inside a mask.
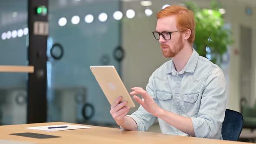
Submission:
[[[180,35],[179,40],[178,40],[177,43],[174,44],[173,49],[171,49],[170,46],[165,45],[164,43],[161,43],[160,47],[162,48],[162,52],[163,52],[164,57],[166,57],[166,58],[174,57],[184,47],[184,43],[182,42],[182,36]],[[163,49],[163,48],[167,48],[167,49]]]

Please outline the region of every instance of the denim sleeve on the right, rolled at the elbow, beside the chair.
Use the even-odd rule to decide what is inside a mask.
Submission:
[[[217,67],[206,77],[197,118],[191,118],[196,137],[222,139],[221,128],[225,117],[225,78]]]

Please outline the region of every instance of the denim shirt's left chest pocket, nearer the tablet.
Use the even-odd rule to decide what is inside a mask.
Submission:
[[[158,106],[160,106],[164,110],[171,111],[171,92],[157,90],[156,98]]]

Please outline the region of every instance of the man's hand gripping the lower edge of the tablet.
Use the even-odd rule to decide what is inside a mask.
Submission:
[[[115,122],[120,126],[125,122],[125,115],[127,115],[130,110],[130,107],[125,107],[127,101],[120,103],[121,99],[122,97],[118,97],[111,105],[111,110],[109,111]]]

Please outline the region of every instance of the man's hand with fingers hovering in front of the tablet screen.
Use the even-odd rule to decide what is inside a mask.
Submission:
[[[148,111],[149,113],[151,113],[152,115],[158,117],[158,115],[164,111],[162,108],[160,108],[156,102],[154,101],[154,99],[148,94],[147,91],[145,91],[143,88],[139,88],[139,87],[134,87],[131,88],[133,90],[133,92],[130,92],[131,95],[133,96],[133,99],[135,99],[135,101],[137,101],[139,104],[142,105],[142,107]],[[143,100],[141,100],[141,98],[139,98],[136,95],[142,95]]]

